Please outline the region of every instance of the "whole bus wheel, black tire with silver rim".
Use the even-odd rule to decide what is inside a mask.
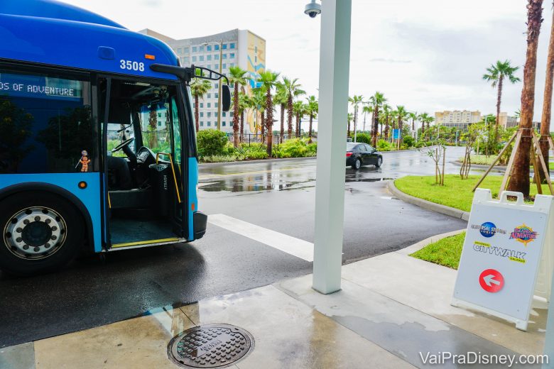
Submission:
[[[33,275],[62,268],[85,241],[82,214],[50,192],[20,192],[0,202],[0,269]]]

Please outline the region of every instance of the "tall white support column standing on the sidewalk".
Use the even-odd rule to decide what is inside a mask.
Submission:
[[[322,0],[313,289],[340,290],[352,0]]]

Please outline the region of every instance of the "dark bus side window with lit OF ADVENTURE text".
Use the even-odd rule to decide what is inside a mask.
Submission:
[[[0,173],[80,171],[95,151],[90,95],[84,79],[0,70]]]

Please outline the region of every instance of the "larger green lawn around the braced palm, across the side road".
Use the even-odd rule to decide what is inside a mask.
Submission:
[[[415,176],[398,178],[394,181],[395,186],[402,192],[413,197],[451,206],[463,211],[469,211],[472,207],[474,185],[479,181],[479,175],[470,175],[467,180],[461,180],[460,175],[445,175],[445,185],[435,184],[435,176]],[[479,188],[491,189],[492,197],[498,198],[498,191],[502,177],[499,175],[488,175],[479,185]],[[548,187],[543,185],[543,192],[548,192]],[[531,196],[537,192],[537,187],[531,184]]]

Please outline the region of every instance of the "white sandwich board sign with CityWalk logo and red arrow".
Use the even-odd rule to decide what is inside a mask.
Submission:
[[[508,196],[517,201],[508,202]],[[538,194],[533,205],[520,192],[504,191],[499,201],[489,189],[476,189],[469,215],[452,305],[475,309],[527,330],[539,266],[548,280],[551,257],[550,210],[554,197]],[[550,250],[548,250],[550,251]],[[549,261],[549,260],[546,260]],[[544,286],[538,290],[544,290]],[[548,299],[549,296],[543,296]]]

